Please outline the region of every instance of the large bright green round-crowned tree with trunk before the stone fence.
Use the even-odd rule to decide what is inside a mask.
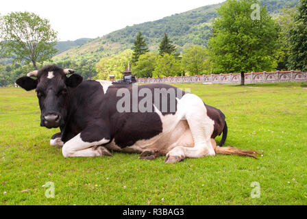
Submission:
[[[209,40],[216,73],[269,71],[277,66],[278,25],[265,6],[258,0],[228,0],[218,14]]]

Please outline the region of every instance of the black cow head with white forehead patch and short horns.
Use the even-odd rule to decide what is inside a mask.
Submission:
[[[56,65],[34,70],[16,80],[25,90],[36,89],[40,105],[40,126],[48,129],[64,125],[69,108],[70,90],[82,82],[73,69],[63,69]],[[71,77],[67,77],[67,75]],[[36,77],[36,79],[32,79]]]

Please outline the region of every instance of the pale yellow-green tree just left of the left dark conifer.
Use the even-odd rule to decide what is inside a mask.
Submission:
[[[126,49],[118,55],[103,57],[97,63],[97,76],[95,79],[109,79],[109,75],[115,75],[115,79],[123,77],[123,71],[127,67],[127,62],[132,60],[132,50]]]

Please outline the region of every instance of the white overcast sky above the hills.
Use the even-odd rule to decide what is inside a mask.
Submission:
[[[60,40],[97,38],[117,29],[155,21],[225,0],[6,0],[0,14],[34,12],[47,18]]]

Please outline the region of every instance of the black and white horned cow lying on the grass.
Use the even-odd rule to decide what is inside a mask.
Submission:
[[[140,153],[140,159],[166,156],[166,163],[176,163],[186,157],[257,153],[216,146],[213,138],[222,131],[227,136],[223,113],[168,84],[84,81],[75,70],[56,65],[34,70],[16,83],[27,91],[36,90],[40,125],[60,127],[50,144],[62,146],[65,158],[121,151]]]

